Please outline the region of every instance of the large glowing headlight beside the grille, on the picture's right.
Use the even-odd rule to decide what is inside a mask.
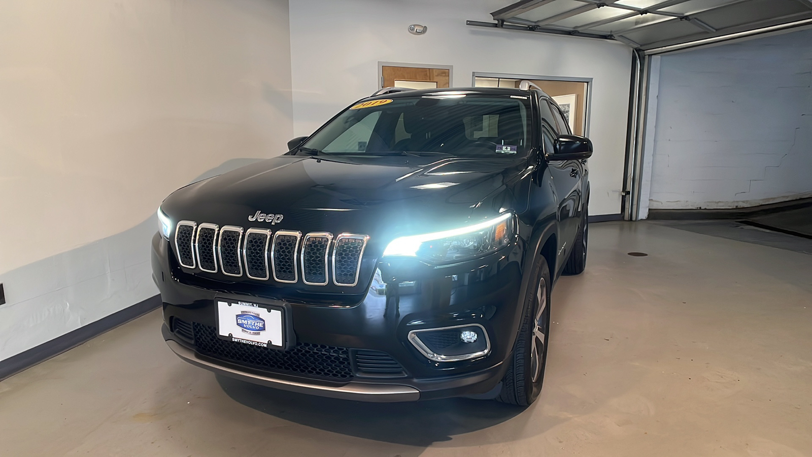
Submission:
[[[512,216],[508,212],[468,227],[395,238],[383,255],[421,257],[432,262],[471,259],[508,245],[513,234]]]

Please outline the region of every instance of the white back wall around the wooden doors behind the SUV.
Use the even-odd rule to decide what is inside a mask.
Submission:
[[[504,0],[292,0],[296,135],[379,88],[378,62],[454,67],[451,85],[473,72],[594,78],[590,138],[593,215],[620,213],[631,50],[620,43],[465,25],[490,20]],[[422,36],[409,24],[428,26]]]

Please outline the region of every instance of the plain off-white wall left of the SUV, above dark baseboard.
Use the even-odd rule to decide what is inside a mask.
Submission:
[[[162,198],[292,137],[287,0],[0,2],[0,360],[157,294]]]

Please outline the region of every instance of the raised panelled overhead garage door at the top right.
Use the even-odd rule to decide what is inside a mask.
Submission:
[[[490,14],[499,26],[652,50],[810,20],[812,0],[520,0]]]

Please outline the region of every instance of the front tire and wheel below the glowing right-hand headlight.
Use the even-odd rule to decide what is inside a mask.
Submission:
[[[502,378],[502,390],[495,398],[502,403],[527,407],[542,391],[547,343],[550,340],[550,268],[542,255],[533,266],[525,298],[524,315],[510,367]],[[534,286],[533,286],[534,285]]]

